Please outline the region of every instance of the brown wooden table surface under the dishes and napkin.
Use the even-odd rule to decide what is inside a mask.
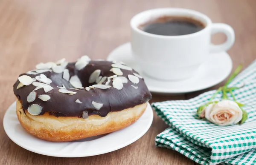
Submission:
[[[12,142],[3,130],[4,113],[15,101],[12,85],[20,73],[63,57],[75,61],[87,54],[105,59],[130,40],[129,21],[134,14],[160,7],[195,9],[213,22],[232,26],[236,42],[228,53],[233,69],[256,59],[255,0],[0,0],[0,165],[194,165],[176,151],[155,147],[154,138],[167,128],[155,114],[149,131],[133,144],[82,158],[32,153]],[[213,37],[214,43],[224,40],[221,34]],[[223,83],[210,89],[220,85]],[[189,99],[210,89],[172,96],[153,94],[151,102]]]

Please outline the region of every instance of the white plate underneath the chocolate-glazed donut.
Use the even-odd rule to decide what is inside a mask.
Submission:
[[[29,151],[57,157],[84,157],[105,154],[123,148],[142,137],[153,121],[153,111],[148,103],[144,114],[134,124],[110,134],[85,138],[73,142],[48,142],[27,133],[16,115],[16,102],[6,111],[3,128],[13,142]]]

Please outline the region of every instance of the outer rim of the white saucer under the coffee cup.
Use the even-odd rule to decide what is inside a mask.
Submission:
[[[131,43],[130,42],[127,42],[127,43],[123,43],[123,44],[121,44],[121,45],[119,45],[119,46],[117,46],[116,48],[114,48],[109,54],[108,54],[108,57],[107,57],[107,60],[114,60],[113,59],[113,54],[115,53],[115,51],[117,51],[118,49],[120,49],[120,48],[122,48],[122,47],[125,47],[125,46],[131,46]],[[148,86],[148,90],[150,91],[150,92],[153,92],[153,93],[158,93],[158,94],[185,94],[185,93],[191,93],[191,92],[195,92],[195,91],[200,91],[200,90],[204,90],[204,89],[207,89],[207,88],[210,88],[210,87],[212,87],[212,86],[215,86],[215,85],[217,85],[218,83],[221,83],[222,81],[224,81],[229,75],[230,75],[230,73],[231,73],[231,71],[232,71],[232,68],[233,68],[233,62],[232,62],[232,59],[231,59],[231,57],[230,57],[230,55],[226,52],[226,51],[222,51],[222,52],[219,52],[219,53],[224,53],[226,56],[227,56],[227,59],[228,59],[228,61],[229,61],[229,64],[230,64],[230,66],[229,66],[229,68],[227,69],[228,71],[227,71],[227,74],[225,74],[225,75],[223,75],[223,77],[220,79],[220,80],[218,80],[217,82],[215,82],[215,83],[212,83],[212,84],[210,84],[210,85],[206,85],[206,86],[204,86],[204,87],[202,87],[202,88],[194,88],[194,89],[191,89],[191,90],[179,90],[179,91],[177,91],[177,90],[173,90],[173,89],[163,89],[163,88],[156,88],[156,87],[154,87],[154,86],[152,86],[152,85],[147,85]],[[145,75],[145,74],[143,74],[143,76],[147,76],[147,75]],[[148,76],[147,76],[148,77]],[[148,78],[150,78],[150,77],[148,77]],[[151,78],[150,78],[151,79]]]

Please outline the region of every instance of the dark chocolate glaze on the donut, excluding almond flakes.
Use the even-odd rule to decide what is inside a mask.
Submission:
[[[73,75],[77,75],[83,85],[83,87],[88,87],[89,85],[93,85],[95,83],[88,83],[89,77],[93,71],[96,69],[101,70],[100,76],[109,77],[114,75],[113,72],[110,71],[112,62],[109,61],[90,61],[89,64],[86,65],[85,68],[78,71],[75,68],[75,63],[69,63],[67,65],[67,69],[69,70],[70,77]],[[124,77],[128,79],[128,74],[133,75],[133,73],[137,73],[136,71],[128,71],[121,69],[123,72]],[[53,71],[47,71],[44,73],[41,73],[46,75],[49,79],[52,80],[52,83],[50,84],[54,89],[51,91],[45,93],[44,89],[38,89],[35,91],[37,93],[37,97],[35,101],[33,102],[27,102],[27,96],[31,91],[35,89],[34,85],[24,85],[23,87],[16,89],[17,85],[20,83],[19,80],[16,81],[16,83],[13,85],[14,93],[18,100],[22,102],[23,110],[27,110],[27,108],[32,104],[38,104],[43,107],[41,114],[48,112],[50,115],[54,115],[56,117],[59,116],[67,116],[67,117],[81,117],[83,111],[87,111],[89,115],[97,114],[101,117],[107,116],[109,112],[113,111],[122,111],[126,108],[132,108],[136,105],[143,104],[151,99],[151,94],[148,91],[147,86],[144,83],[143,79],[140,79],[140,82],[138,84],[132,83],[128,79],[128,83],[123,83],[123,88],[121,90],[118,90],[116,88],[113,88],[112,80],[109,83],[109,85],[112,86],[112,88],[109,89],[99,89],[94,88],[90,89],[89,91],[86,91],[85,89],[79,89],[79,90],[73,90],[68,89],[74,88],[68,81],[64,80],[62,78],[63,73],[55,73]],[[32,74],[20,74],[21,75],[28,75],[30,77],[36,77],[37,75]],[[106,80],[107,81],[107,80]],[[102,84],[106,83],[103,82]],[[69,91],[75,91],[77,92],[74,95],[68,95],[61,92],[58,92],[60,88],[57,86],[62,86],[62,84],[65,85],[65,87]],[[137,86],[138,88],[135,89],[131,85]],[[51,98],[50,100],[44,102],[38,98],[38,95],[41,94],[47,94]],[[76,103],[75,101],[79,99],[82,103]],[[91,105],[91,102],[98,102],[103,103],[103,107],[99,110],[96,110]]]

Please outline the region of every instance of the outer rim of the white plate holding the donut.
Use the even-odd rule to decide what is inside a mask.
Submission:
[[[18,142],[17,141],[17,139],[15,139],[15,138],[13,138],[12,136],[10,136],[10,134],[9,134],[9,132],[8,131],[6,131],[7,130],[7,128],[6,128],[6,124],[8,123],[8,122],[6,122],[6,114],[7,114],[7,112],[9,112],[9,111],[12,111],[12,106],[15,106],[15,104],[16,104],[16,102],[13,102],[8,108],[7,108],[7,110],[6,110],[6,112],[5,112],[5,114],[4,114],[4,117],[3,117],[3,128],[4,128],[4,131],[6,132],[6,135],[15,143],[15,144],[17,144],[18,146],[20,146],[20,147],[22,147],[22,148],[24,148],[24,149],[26,149],[26,150],[28,150],[28,151],[31,151],[31,152],[34,152],[34,153],[36,153],[36,154],[41,154],[41,155],[46,155],[46,156],[53,156],[53,157],[87,157],[87,156],[96,156],[96,155],[101,155],[101,154],[106,154],[106,153],[109,153],[109,152],[112,152],[112,151],[116,151],[116,150],[119,150],[119,149],[121,149],[121,148],[124,148],[124,147],[126,147],[126,146],[128,146],[128,145],[130,145],[130,144],[132,144],[133,142],[135,142],[135,141],[137,141],[138,139],[140,139],[141,137],[143,137],[143,135],[145,134],[145,133],[147,133],[147,131],[149,130],[149,128],[151,127],[151,125],[152,125],[152,122],[153,122],[153,118],[154,118],[154,114],[153,114],[153,109],[152,109],[152,107],[151,107],[151,105],[149,104],[149,102],[147,102],[147,108],[146,109],[148,109],[148,113],[149,113],[149,118],[148,118],[148,123],[147,123],[147,125],[145,125],[145,129],[143,129],[143,131],[142,132],[140,132],[140,134],[138,134],[136,137],[134,137],[133,139],[130,139],[130,140],[128,140],[128,141],[126,141],[125,143],[123,143],[122,145],[118,145],[118,146],[116,146],[116,147],[114,147],[114,148],[111,148],[111,149],[109,149],[109,150],[107,150],[107,151],[100,151],[100,152],[98,152],[98,153],[90,153],[90,154],[80,154],[80,155],[73,155],[72,153],[61,153],[61,154],[59,154],[59,153],[47,153],[46,151],[42,151],[42,150],[40,150],[40,148],[38,148],[38,149],[34,149],[34,148],[32,148],[31,146],[28,146],[28,145],[23,145],[23,143],[21,143],[21,142]],[[144,113],[146,112],[146,110],[144,111]],[[15,113],[15,112],[14,112]],[[144,114],[143,113],[143,114]],[[15,113],[15,115],[16,115],[16,113]],[[139,118],[140,119],[140,118]],[[136,122],[134,122],[133,124],[135,124]],[[24,128],[23,128],[24,129]],[[26,130],[25,130],[26,131]],[[27,133],[27,132],[26,132]],[[27,133],[27,134],[29,134],[29,133]],[[111,133],[110,133],[111,134]],[[48,142],[48,141],[46,141],[46,142]],[[58,142],[56,142],[56,143],[58,143]],[[61,143],[61,142],[60,142]]]

